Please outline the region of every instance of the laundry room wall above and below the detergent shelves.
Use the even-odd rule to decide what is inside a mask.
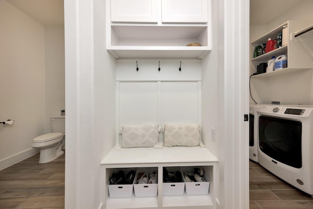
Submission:
[[[289,20],[312,21],[313,23],[312,8],[312,0],[303,0],[268,25],[250,25],[250,42]],[[253,50],[254,48],[250,48],[250,55]],[[250,72],[250,74],[252,73]],[[257,103],[271,103],[271,101],[277,100],[281,104],[302,102],[306,105],[313,105],[312,87],[312,70],[294,71],[288,75],[269,77],[268,79],[251,79],[251,93]],[[251,98],[250,103],[254,104]]]

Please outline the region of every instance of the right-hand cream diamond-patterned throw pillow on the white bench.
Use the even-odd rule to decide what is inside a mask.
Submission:
[[[199,124],[164,124],[164,146],[197,146],[199,139]]]

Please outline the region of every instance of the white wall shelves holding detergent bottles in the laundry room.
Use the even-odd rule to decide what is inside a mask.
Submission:
[[[287,55],[288,68],[268,73],[262,73],[259,75],[254,75],[253,77],[266,78],[268,76],[279,75],[286,72],[289,73],[292,72],[292,70],[313,68],[312,55],[310,53],[307,53],[308,51],[312,50],[313,47],[312,38],[310,40],[308,38],[303,38],[305,35],[303,35],[303,37],[301,36],[298,36],[297,38],[294,37],[295,34],[300,33],[306,30],[307,28],[310,28],[310,26],[312,26],[312,22],[287,21],[286,23],[283,23],[276,27],[275,29],[269,31],[267,34],[261,36],[259,39],[253,41],[251,45],[254,47],[257,45],[262,46],[263,43],[267,42],[268,38],[271,38],[272,40],[276,39],[277,34],[282,32],[284,26],[287,26],[288,28],[287,33],[289,38],[287,45],[251,59],[251,62],[255,68],[252,69],[251,71],[256,71],[257,65],[259,65],[260,63],[267,63],[272,56],[278,57],[281,54]]]

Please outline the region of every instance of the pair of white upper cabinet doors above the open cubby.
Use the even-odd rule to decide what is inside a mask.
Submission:
[[[161,2],[162,6],[159,2]],[[161,14],[158,17],[158,14]],[[111,0],[112,23],[207,23],[208,0]]]

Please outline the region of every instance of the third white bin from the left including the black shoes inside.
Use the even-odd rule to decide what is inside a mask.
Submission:
[[[185,182],[180,167],[163,167],[163,196],[183,195],[184,190]]]

